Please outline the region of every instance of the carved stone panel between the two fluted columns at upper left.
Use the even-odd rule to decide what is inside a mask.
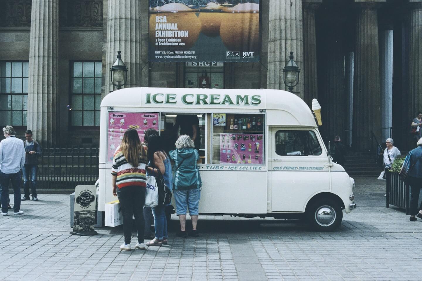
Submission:
[[[102,27],[103,0],[61,0],[60,27]]]

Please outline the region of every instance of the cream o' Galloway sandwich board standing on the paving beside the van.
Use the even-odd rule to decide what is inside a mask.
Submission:
[[[75,188],[75,208],[73,211],[73,235],[95,235],[95,185],[78,185]]]

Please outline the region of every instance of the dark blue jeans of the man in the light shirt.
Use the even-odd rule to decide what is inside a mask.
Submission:
[[[21,209],[21,172],[16,174],[5,174],[0,172],[0,188],[1,188],[1,211],[7,213],[7,204],[9,200],[9,184],[12,183],[14,192],[13,211],[19,212]]]

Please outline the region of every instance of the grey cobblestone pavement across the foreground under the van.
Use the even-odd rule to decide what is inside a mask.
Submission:
[[[384,182],[356,182],[358,208],[333,233],[273,219],[200,217],[199,238],[170,231],[168,246],[131,252],[119,251],[122,227],[70,235],[69,196],[41,194],[22,202],[24,215],[0,217],[0,280],[421,280],[422,220],[385,208]]]

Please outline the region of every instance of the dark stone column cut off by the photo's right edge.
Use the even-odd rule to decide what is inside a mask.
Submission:
[[[408,123],[422,110],[422,1],[409,0]]]

